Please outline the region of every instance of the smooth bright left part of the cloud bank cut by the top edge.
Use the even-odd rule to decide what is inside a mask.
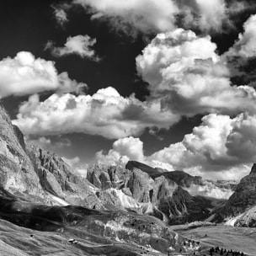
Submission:
[[[170,0],[76,0],[74,3],[82,4],[87,10],[88,6],[93,8],[94,19],[114,17],[143,32],[173,29],[174,14],[179,11]],[[121,20],[115,25],[123,26]]]

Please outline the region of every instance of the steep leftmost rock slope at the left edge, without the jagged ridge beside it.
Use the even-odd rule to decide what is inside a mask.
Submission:
[[[39,177],[25,152],[24,138],[0,105],[0,184],[9,192],[43,195]]]

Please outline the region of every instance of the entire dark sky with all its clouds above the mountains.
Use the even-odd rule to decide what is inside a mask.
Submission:
[[[0,100],[77,172],[129,160],[205,179],[256,162],[256,4],[3,0]]]

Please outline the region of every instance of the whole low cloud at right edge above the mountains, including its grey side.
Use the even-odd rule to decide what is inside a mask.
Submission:
[[[240,179],[256,161],[256,116],[247,114],[206,115],[184,140],[147,157],[154,165],[168,163],[174,169],[203,176],[233,176]]]

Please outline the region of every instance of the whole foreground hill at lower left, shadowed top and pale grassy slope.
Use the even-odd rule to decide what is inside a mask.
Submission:
[[[167,255],[200,248],[154,216],[33,204],[1,191],[1,256]]]

